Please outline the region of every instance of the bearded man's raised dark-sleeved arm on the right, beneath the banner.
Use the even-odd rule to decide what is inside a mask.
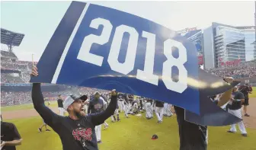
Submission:
[[[101,113],[91,113],[91,123],[94,126],[98,126],[104,123],[107,118],[114,114],[114,111],[117,108],[117,93],[115,90],[111,91],[111,100],[110,104],[107,106],[107,109],[102,111]]]

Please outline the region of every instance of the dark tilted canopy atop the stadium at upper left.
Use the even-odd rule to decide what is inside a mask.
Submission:
[[[20,46],[24,36],[24,34],[15,33],[11,30],[1,28],[1,43],[8,46],[9,52],[12,52],[12,48],[14,46]]]

